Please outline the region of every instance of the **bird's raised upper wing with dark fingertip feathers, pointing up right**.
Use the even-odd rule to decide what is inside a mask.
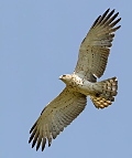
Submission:
[[[108,62],[114,33],[121,25],[114,27],[121,18],[117,19],[119,12],[108,9],[98,17],[84,39],[80,49],[75,74],[96,82],[96,76],[101,77]],[[96,76],[95,76],[96,75]]]

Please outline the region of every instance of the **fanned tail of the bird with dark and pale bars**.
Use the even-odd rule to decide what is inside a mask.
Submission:
[[[97,108],[105,108],[114,102],[114,96],[118,94],[117,77],[108,78],[96,84],[97,94],[90,96]]]

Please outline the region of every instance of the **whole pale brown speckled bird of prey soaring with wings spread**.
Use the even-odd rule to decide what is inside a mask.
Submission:
[[[97,82],[106,70],[114,32],[121,27],[116,24],[119,12],[108,9],[94,22],[80,44],[77,65],[73,74],[59,76],[66,87],[45,106],[41,116],[32,126],[30,140],[36,150],[48,146],[86,107],[87,96],[90,96],[97,108],[105,108],[114,102],[118,91],[117,77]]]

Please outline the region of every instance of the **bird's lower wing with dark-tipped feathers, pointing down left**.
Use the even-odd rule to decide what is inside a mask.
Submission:
[[[42,145],[45,148],[46,140],[48,146],[64,127],[69,125],[85,108],[87,98],[85,95],[73,92],[66,87],[55,99],[53,99],[42,112],[38,119],[30,130],[32,148],[36,144],[36,150]]]

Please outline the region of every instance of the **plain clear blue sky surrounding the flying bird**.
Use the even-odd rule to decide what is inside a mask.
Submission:
[[[131,0],[0,1],[0,157],[132,158]],[[116,102],[86,109],[45,150],[36,151],[29,130],[73,73],[79,45],[108,8],[122,18],[105,75],[118,76]]]

